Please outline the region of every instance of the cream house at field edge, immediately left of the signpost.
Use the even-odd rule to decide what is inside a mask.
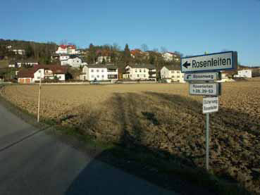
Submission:
[[[171,79],[174,82],[185,82],[184,74],[180,72],[180,66],[168,65],[163,66],[160,70],[161,79],[169,80]]]

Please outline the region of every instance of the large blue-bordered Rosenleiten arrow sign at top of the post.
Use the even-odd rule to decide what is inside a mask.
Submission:
[[[191,56],[181,59],[181,72],[204,72],[235,70],[237,68],[237,52],[226,51],[216,54],[206,54],[202,56]]]

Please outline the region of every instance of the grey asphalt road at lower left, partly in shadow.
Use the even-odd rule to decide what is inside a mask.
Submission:
[[[177,194],[101,163],[0,104],[0,194]]]

